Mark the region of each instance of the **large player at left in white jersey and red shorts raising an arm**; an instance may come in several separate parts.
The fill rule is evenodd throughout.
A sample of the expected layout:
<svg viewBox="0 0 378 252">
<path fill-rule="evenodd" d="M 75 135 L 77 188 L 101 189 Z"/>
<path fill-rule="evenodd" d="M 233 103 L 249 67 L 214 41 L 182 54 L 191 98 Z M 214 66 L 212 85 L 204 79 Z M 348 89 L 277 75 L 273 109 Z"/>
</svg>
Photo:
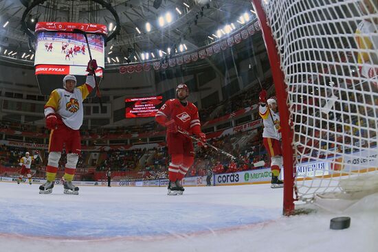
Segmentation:
<svg viewBox="0 0 378 252">
<path fill-rule="evenodd" d="M 80 126 L 82 125 L 82 101 L 96 85 L 94 72 L 97 69 L 96 60 L 89 60 L 88 76 L 85 84 L 76 87 L 75 76 L 67 75 L 63 78 L 64 89 L 52 91 L 45 105 L 46 127 L 51 130 L 49 138 L 49 160 L 46 168 L 46 183 L 39 187 L 40 194 L 52 193 L 58 162 L 62 154 L 63 145 L 67 153 L 67 163 L 63 176 L 65 194 L 78 194 L 79 188 L 72 185 L 76 164 L 81 152 Z"/>
</svg>

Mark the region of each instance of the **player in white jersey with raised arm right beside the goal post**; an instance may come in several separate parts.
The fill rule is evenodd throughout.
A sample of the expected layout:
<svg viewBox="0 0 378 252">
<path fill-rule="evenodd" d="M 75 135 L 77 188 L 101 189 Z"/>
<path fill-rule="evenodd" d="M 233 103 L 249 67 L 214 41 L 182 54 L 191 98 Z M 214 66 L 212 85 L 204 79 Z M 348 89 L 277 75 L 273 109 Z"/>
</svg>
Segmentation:
<svg viewBox="0 0 378 252">
<path fill-rule="evenodd" d="M 274 99 L 267 100 L 267 91 L 263 90 L 258 95 L 260 106 L 258 113 L 263 118 L 264 146 L 271 159 L 271 188 L 283 187 L 283 182 L 278 179 L 280 176 L 281 166 L 283 165 L 281 133 L 280 133 L 280 115 L 278 113 L 277 102 Z"/>
</svg>

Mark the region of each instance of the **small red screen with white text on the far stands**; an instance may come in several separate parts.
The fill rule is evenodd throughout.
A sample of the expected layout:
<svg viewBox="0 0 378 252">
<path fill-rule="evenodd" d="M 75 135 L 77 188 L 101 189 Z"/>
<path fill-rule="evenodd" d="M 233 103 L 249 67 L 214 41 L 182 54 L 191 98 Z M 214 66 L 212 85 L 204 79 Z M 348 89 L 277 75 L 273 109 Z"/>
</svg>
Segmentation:
<svg viewBox="0 0 378 252">
<path fill-rule="evenodd" d="M 162 96 L 151 96 L 143 98 L 126 98 L 125 117 L 154 117 L 162 105 Z"/>
</svg>

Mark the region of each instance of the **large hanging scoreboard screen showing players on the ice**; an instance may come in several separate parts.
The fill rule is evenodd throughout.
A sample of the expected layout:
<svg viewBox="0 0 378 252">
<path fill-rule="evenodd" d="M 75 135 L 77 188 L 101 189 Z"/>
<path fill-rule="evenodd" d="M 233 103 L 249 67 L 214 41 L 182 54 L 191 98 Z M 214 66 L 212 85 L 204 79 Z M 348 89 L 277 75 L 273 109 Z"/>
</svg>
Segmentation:
<svg viewBox="0 0 378 252">
<path fill-rule="evenodd" d="M 85 36 L 74 33 L 74 29 L 87 32 Z M 34 66 L 39 74 L 72 74 L 86 76 L 89 60 L 88 45 L 91 56 L 97 60 L 97 76 L 102 76 L 104 69 L 104 36 L 107 27 L 100 24 L 85 23 L 47 23 L 36 24 L 36 54 Z M 97 71 L 96 71 L 97 73 Z"/>
</svg>

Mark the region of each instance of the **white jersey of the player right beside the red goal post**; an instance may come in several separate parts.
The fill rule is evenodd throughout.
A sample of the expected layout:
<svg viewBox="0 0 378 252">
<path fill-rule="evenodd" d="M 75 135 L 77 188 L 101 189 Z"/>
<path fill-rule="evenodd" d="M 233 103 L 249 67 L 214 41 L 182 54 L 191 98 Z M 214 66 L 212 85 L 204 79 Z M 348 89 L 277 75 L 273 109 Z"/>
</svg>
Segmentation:
<svg viewBox="0 0 378 252">
<path fill-rule="evenodd" d="M 266 104 L 258 107 L 258 113 L 263 118 L 264 123 L 263 137 L 281 140 L 281 133 L 278 132 L 280 130 L 280 114 L 267 109 L 267 106 Z M 273 117 L 273 120 L 271 117 Z"/>
</svg>

